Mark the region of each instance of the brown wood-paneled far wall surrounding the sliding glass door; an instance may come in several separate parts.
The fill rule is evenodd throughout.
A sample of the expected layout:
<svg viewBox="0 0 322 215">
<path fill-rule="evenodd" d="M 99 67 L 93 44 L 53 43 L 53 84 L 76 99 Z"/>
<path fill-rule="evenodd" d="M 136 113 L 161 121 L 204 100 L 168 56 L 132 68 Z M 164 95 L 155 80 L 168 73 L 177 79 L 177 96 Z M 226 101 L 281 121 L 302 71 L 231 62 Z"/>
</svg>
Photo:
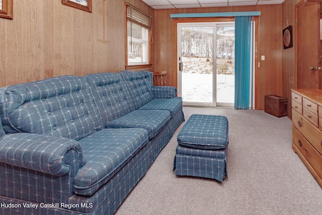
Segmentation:
<svg viewBox="0 0 322 215">
<path fill-rule="evenodd" d="M 155 10 L 154 69 L 167 70 L 167 83 L 177 86 L 177 26 L 175 20 L 170 19 L 170 14 L 241 11 L 261 11 L 257 55 L 258 59 L 265 55 L 265 60 L 259 61 L 257 70 L 256 107 L 265 109 L 265 95 L 282 96 L 282 5 Z"/>
</svg>

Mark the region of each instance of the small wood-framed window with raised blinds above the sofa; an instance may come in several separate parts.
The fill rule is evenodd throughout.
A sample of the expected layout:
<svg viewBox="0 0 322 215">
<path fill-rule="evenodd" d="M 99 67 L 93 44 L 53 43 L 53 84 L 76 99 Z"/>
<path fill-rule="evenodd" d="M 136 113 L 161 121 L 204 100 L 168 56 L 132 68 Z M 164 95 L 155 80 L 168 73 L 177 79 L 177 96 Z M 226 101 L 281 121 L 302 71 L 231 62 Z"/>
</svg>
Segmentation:
<svg viewBox="0 0 322 215">
<path fill-rule="evenodd" d="M 151 17 L 126 4 L 126 23 L 126 65 L 150 64 L 149 35 L 151 32 Z"/>
</svg>

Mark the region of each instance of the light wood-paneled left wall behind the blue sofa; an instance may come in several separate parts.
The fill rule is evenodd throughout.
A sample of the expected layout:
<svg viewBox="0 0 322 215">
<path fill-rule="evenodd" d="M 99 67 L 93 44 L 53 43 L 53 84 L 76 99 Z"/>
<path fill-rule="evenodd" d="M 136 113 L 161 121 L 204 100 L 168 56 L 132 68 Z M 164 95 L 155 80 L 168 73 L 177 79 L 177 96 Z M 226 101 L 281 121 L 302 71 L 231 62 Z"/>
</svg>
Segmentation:
<svg viewBox="0 0 322 215">
<path fill-rule="evenodd" d="M 0 18 L 0 87 L 124 70 L 125 2 L 154 16 L 141 0 L 95 0 L 93 13 L 61 0 L 15 1 L 14 19 Z"/>
</svg>

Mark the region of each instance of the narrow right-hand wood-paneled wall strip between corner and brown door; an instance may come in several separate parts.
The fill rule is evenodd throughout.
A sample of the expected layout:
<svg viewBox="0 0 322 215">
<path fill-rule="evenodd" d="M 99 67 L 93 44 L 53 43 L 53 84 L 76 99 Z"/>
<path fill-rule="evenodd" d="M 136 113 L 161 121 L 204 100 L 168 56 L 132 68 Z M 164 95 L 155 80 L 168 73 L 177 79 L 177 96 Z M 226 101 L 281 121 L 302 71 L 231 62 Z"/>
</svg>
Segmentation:
<svg viewBox="0 0 322 215">
<path fill-rule="evenodd" d="M 286 0 L 283 3 L 283 21 L 282 29 L 292 26 L 293 32 L 295 28 L 295 5 L 300 0 Z M 292 117 L 292 106 L 291 106 L 291 89 L 295 87 L 295 46 L 294 34 L 293 34 L 293 47 L 283 49 L 282 51 L 282 86 L 283 86 L 283 97 L 288 98 L 288 117 Z"/>
</svg>

